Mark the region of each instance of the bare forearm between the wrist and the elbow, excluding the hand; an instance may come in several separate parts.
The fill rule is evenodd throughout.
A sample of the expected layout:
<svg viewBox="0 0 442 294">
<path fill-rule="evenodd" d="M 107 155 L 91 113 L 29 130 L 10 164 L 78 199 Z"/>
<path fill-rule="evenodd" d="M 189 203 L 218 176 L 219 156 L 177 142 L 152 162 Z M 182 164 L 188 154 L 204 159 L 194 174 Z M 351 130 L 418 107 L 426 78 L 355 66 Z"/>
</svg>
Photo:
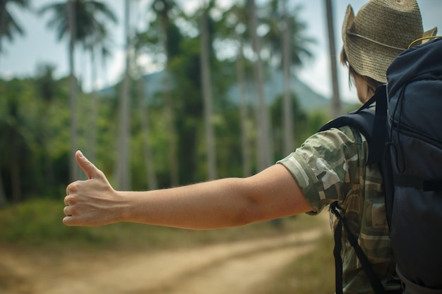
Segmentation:
<svg viewBox="0 0 442 294">
<path fill-rule="evenodd" d="M 192 229 L 261 221 L 264 216 L 247 180 L 227 178 L 165 190 L 118 192 L 126 200 L 121 221 Z"/>
</svg>

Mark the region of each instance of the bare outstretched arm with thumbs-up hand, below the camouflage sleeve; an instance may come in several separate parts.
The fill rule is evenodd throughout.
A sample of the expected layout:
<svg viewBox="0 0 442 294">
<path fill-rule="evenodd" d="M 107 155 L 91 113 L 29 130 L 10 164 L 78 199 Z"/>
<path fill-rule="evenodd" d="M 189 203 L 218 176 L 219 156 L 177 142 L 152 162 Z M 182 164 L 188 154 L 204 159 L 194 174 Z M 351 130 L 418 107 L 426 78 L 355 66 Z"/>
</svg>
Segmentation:
<svg viewBox="0 0 442 294">
<path fill-rule="evenodd" d="M 118 221 L 177 228 L 241 226 L 302 212 L 311 207 L 292 175 L 275 164 L 249 178 L 225 178 L 152 191 L 117 191 L 81 152 L 78 165 L 88 180 L 68 185 L 67 226 L 102 226 Z"/>
</svg>

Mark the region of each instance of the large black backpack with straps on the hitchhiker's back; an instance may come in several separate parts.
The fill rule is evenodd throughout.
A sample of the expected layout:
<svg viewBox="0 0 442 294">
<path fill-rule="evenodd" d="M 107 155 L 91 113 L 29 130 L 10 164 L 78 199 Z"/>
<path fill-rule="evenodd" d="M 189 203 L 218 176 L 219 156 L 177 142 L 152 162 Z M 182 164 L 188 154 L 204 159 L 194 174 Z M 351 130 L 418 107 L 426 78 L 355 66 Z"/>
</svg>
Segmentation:
<svg viewBox="0 0 442 294">
<path fill-rule="evenodd" d="M 321 130 L 351 125 L 369 144 L 367 164 L 379 164 L 396 271 L 407 294 L 442 294 L 442 39 L 402 52 L 387 85 L 359 110 Z M 376 102 L 376 113 L 369 106 Z M 342 226 L 374 293 L 386 293 L 357 243 L 338 202 L 335 230 L 336 293 L 342 293 Z"/>
</svg>

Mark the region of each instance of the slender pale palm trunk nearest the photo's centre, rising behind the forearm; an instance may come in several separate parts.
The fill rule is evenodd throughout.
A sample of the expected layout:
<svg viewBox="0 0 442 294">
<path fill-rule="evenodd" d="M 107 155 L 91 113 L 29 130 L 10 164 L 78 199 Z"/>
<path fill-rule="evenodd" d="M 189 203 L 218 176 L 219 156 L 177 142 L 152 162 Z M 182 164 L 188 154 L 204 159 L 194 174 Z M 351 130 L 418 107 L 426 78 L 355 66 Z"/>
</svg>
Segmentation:
<svg viewBox="0 0 442 294">
<path fill-rule="evenodd" d="M 205 142 L 207 148 L 208 180 L 217 178 L 215 135 L 212 125 L 212 85 L 210 81 L 208 9 L 203 7 L 201 16 L 201 79 L 203 85 Z"/>
</svg>

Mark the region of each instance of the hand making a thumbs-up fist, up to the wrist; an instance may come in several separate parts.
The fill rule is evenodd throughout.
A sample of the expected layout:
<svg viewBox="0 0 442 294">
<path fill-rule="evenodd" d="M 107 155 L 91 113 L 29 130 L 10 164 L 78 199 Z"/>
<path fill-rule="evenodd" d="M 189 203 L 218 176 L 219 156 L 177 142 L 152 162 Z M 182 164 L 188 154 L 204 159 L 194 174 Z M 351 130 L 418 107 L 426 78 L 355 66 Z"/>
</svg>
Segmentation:
<svg viewBox="0 0 442 294">
<path fill-rule="evenodd" d="M 66 188 L 63 223 L 66 226 L 103 226 L 119 221 L 117 207 L 121 208 L 123 199 L 104 173 L 80 151 L 75 156 L 88 180 L 77 180 Z"/>
</svg>

